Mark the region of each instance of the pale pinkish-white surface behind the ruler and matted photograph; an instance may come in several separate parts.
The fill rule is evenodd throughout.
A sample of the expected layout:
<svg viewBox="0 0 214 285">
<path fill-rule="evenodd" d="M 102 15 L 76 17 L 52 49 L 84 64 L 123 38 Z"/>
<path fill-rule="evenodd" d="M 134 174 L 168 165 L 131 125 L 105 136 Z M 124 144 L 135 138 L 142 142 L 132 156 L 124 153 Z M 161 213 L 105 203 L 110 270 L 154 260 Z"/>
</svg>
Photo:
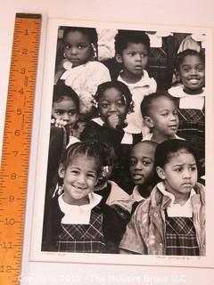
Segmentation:
<svg viewBox="0 0 214 285">
<path fill-rule="evenodd" d="M 45 24 L 48 17 L 64 17 L 80 20 L 214 27 L 213 0 L 37 0 L 34 2 L 29 0 L 5 0 L 1 1 L 0 9 L 0 138 L 3 136 L 4 128 L 4 109 L 15 12 L 42 13 L 43 24 Z M 45 27 L 43 27 L 41 46 L 44 46 L 44 35 Z M 43 57 L 42 52 L 40 55 L 39 81 L 42 78 Z M 213 62 L 210 63 L 213 64 Z M 39 90 L 39 85 L 37 89 Z M 39 101 L 39 98 L 37 100 Z M 36 102 L 36 106 L 37 104 Z M 37 124 L 36 121 L 35 129 L 37 129 Z M 31 159 L 34 159 L 34 157 Z M 30 194 L 32 193 L 29 191 L 29 197 Z M 28 245 L 26 245 L 26 248 L 28 249 Z M 27 263 L 27 257 L 25 256 L 22 284 L 213 285 L 214 270 L 128 265 L 38 264 Z"/>
</svg>

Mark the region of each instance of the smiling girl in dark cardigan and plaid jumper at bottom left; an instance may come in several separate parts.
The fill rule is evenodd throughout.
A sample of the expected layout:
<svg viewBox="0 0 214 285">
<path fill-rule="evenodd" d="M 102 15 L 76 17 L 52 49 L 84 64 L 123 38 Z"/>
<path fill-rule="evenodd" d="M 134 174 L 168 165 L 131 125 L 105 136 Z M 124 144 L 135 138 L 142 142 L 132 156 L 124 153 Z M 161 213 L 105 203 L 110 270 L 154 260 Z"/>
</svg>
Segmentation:
<svg viewBox="0 0 214 285">
<path fill-rule="evenodd" d="M 101 167 L 97 142 L 76 142 L 64 152 L 64 190 L 45 204 L 42 250 L 101 253 L 119 242 L 119 216 L 94 193 Z"/>
</svg>

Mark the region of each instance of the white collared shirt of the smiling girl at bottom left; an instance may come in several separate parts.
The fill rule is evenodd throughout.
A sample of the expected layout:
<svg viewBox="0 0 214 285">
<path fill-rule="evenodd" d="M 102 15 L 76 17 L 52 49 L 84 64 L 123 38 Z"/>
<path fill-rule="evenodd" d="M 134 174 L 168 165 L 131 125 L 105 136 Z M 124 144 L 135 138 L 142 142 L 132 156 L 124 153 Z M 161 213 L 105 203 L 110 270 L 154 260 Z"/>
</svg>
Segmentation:
<svg viewBox="0 0 214 285">
<path fill-rule="evenodd" d="M 92 208 L 95 208 L 102 199 L 100 195 L 92 192 L 88 194 L 89 203 L 78 206 L 66 203 L 62 196 L 63 194 L 58 198 L 59 206 L 64 213 L 62 224 L 89 224 Z"/>
</svg>

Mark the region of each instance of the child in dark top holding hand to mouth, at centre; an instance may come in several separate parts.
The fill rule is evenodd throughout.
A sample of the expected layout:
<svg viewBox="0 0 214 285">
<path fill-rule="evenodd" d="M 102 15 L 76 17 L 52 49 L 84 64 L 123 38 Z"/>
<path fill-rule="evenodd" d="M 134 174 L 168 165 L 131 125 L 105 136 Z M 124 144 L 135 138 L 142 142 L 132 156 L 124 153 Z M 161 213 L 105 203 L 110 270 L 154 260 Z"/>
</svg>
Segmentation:
<svg viewBox="0 0 214 285">
<path fill-rule="evenodd" d="M 119 81 L 99 85 L 95 94 L 95 107 L 99 117 L 87 123 L 81 140 L 95 139 L 113 145 L 116 162 L 111 180 L 125 191 L 131 191 L 128 162 L 131 146 L 142 139 L 142 134 L 130 134 L 124 130 L 127 114 L 133 110 L 128 86 Z"/>
</svg>

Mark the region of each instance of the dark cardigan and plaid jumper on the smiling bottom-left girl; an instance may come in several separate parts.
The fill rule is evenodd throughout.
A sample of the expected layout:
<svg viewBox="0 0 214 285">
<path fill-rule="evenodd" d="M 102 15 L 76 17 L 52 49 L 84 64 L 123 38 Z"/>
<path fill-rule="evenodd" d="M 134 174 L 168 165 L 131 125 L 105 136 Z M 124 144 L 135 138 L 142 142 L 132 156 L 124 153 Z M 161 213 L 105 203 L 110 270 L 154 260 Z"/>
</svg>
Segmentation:
<svg viewBox="0 0 214 285">
<path fill-rule="evenodd" d="M 46 196 L 42 251 L 118 253 L 127 211 L 106 205 L 103 198 L 92 208 L 89 224 L 62 224 L 63 216 L 58 197 Z"/>
</svg>

